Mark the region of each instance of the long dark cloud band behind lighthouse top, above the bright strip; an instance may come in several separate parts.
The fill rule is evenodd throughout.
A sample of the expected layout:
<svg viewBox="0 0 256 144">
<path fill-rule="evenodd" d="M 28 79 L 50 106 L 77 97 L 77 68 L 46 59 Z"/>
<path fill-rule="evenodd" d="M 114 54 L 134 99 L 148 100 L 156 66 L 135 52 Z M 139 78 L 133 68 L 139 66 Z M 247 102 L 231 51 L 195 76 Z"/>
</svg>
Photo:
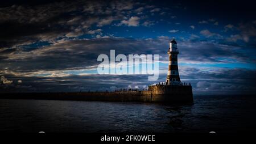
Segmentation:
<svg viewBox="0 0 256 144">
<path fill-rule="evenodd" d="M 160 61 L 168 61 L 168 37 L 157 39 L 98 38 L 85 40 L 60 40 L 56 43 L 30 51 L 4 50 L 0 66 L 13 72 L 38 70 L 82 69 L 97 66 L 100 54 L 159 54 Z M 180 62 L 229 62 L 230 59 L 246 62 L 249 58 L 240 53 L 242 48 L 206 42 L 183 41 L 178 44 Z M 8 57 L 8 58 L 7 58 Z M 81 68 L 79 68 L 81 67 Z M 6 71 L 6 70 L 5 70 Z"/>
</svg>

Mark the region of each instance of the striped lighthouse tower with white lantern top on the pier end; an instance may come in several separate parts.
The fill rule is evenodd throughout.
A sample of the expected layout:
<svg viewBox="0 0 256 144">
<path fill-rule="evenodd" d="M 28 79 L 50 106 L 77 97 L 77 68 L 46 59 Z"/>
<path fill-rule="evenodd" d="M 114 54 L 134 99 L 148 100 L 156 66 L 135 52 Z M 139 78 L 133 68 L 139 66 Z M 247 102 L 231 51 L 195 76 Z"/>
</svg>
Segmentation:
<svg viewBox="0 0 256 144">
<path fill-rule="evenodd" d="M 177 43 L 174 39 L 170 41 L 170 48 L 168 50 L 168 54 L 169 54 L 169 67 L 168 67 L 166 84 L 180 85 L 180 75 L 179 75 L 179 69 L 177 66 L 177 54 L 179 54 L 179 50 L 177 50 Z"/>
</svg>

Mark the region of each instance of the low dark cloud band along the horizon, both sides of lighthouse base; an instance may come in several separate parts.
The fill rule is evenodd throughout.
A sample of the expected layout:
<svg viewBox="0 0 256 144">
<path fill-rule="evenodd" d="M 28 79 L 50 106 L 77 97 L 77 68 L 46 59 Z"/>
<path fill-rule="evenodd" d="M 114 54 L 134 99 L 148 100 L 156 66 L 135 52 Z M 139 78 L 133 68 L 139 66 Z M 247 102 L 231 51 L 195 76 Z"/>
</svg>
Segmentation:
<svg viewBox="0 0 256 144">
<path fill-rule="evenodd" d="M 255 94 L 255 70 L 212 69 L 180 67 L 182 82 L 191 82 L 195 95 L 246 95 Z M 167 69 L 166 69 L 167 71 Z M 69 75 L 67 77 L 16 77 L 7 75 L 8 84 L 1 91 L 105 91 L 120 88 L 143 90 L 152 83 L 164 82 L 166 74 L 160 74 L 158 81 L 150 82 L 148 75 Z M 7 79 L 6 78 L 6 79 Z M 137 79 L 139 81 L 134 81 Z M 21 80 L 22 83 L 18 81 Z M 89 87 L 88 87 L 89 86 Z"/>
</svg>

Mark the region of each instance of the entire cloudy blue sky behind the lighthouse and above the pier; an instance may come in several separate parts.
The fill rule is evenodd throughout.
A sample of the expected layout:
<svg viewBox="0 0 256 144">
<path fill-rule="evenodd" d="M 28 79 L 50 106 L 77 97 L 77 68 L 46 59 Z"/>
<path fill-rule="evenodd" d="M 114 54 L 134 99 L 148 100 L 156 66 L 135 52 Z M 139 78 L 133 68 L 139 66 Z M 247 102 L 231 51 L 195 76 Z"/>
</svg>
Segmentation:
<svg viewBox="0 0 256 144">
<path fill-rule="evenodd" d="M 0 4 L 0 92 L 146 89 L 166 81 L 177 41 L 195 95 L 255 94 L 253 1 L 8 1 Z M 159 54 L 159 79 L 100 75 L 100 54 Z"/>
</svg>

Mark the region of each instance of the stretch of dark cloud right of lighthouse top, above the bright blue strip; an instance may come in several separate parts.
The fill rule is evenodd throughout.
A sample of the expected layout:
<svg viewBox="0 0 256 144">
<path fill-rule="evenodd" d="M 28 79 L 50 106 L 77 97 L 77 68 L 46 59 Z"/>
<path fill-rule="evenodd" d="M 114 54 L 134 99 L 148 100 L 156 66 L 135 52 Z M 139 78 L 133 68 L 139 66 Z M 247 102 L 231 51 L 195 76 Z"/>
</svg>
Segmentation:
<svg viewBox="0 0 256 144">
<path fill-rule="evenodd" d="M 179 57 L 180 62 L 229 63 L 231 60 L 234 60 L 235 62 L 253 61 L 250 60 L 245 53 L 239 52 L 243 49 L 241 47 L 196 41 L 198 38 L 196 35 L 192 35 L 192 38 L 192 41 L 183 41 L 183 43 L 178 43 L 178 48 L 180 53 L 182 53 L 182 57 Z"/>
</svg>

